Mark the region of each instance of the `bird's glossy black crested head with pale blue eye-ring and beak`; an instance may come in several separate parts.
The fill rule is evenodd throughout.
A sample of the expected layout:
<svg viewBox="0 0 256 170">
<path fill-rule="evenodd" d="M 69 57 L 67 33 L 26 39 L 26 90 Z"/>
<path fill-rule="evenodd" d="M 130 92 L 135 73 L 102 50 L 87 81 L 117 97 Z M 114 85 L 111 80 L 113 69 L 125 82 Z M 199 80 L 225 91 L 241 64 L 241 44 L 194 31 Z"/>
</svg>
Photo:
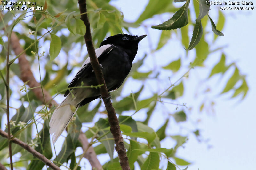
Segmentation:
<svg viewBox="0 0 256 170">
<path fill-rule="evenodd" d="M 142 40 L 146 36 L 147 35 L 137 36 L 128 34 L 117 34 L 110 36 L 106 40 L 102 41 L 100 43 L 100 46 L 112 44 L 124 50 L 130 57 L 132 57 L 133 60 L 135 55 L 137 54 L 138 44 L 140 40 Z"/>
</svg>

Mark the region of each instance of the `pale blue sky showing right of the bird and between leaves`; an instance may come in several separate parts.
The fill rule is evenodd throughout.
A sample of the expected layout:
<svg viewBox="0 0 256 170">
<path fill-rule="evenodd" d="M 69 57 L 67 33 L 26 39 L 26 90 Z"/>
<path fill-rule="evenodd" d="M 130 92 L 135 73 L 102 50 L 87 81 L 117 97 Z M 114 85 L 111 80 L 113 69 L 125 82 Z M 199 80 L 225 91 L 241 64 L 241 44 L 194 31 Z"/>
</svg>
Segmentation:
<svg viewBox="0 0 256 170">
<path fill-rule="evenodd" d="M 140 13 L 144 10 L 147 0 L 130 0 L 130 1 L 113 1 L 118 9 L 124 13 L 124 20 L 136 21 Z M 137 5 L 134 5 L 137 4 Z M 178 4 L 178 5 L 182 5 Z M 255 5 L 255 4 L 254 4 Z M 213 20 L 217 20 L 218 6 L 212 5 L 209 15 Z M 256 67 L 255 67 L 255 47 L 256 47 L 256 12 L 255 11 L 223 11 L 226 18 L 225 27 L 222 30 L 224 37 L 220 37 L 214 47 L 221 47 L 227 45 L 222 51 L 227 54 L 227 61 L 235 61 L 242 74 L 246 74 L 246 80 L 250 90 L 244 100 L 235 98 L 230 100 L 232 93 L 228 93 L 222 96 L 218 96 L 218 92 L 224 88 L 226 81 L 220 81 L 220 77 L 214 77 L 209 83 L 210 86 L 216 90 L 216 93 L 209 98 L 214 99 L 216 105 L 214 107 L 215 114 L 209 115 L 205 112 L 198 114 L 198 110 L 192 111 L 189 118 L 195 120 L 200 118 L 201 123 L 197 125 L 202 131 L 204 139 L 210 139 L 209 143 L 212 145 L 211 149 L 208 149 L 207 144 L 198 143 L 193 135 L 189 136 L 189 140 L 184 144 L 184 148 L 178 150 L 178 156 L 193 162 L 188 167 L 192 169 L 253 169 L 256 166 L 256 146 L 255 146 L 255 95 L 256 95 Z M 164 19 L 168 19 L 171 15 L 164 15 Z M 155 17 L 156 19 L 156 17 Z M 160 24 L 158 20 L 150 19 L 146 21 L 147 24 Z M 193 28 L 192 28 L 193 29 Z M 218 29 L 218 28 L 217 28 Z M 131 29 L 134 34 L 145 34 L 144 28 Z M 192 30 L 190 30 L 192 35 Z M 212 31 L 208 24 L 206 31 L 210 32 L 207 38 L 212 38 Z M 153 46 L 156 47 L 160 31 L 149 29 L 150 39 Z M 191 37 L 190 37 L 191 38 Z M 180 39 L 177 37 L 172 38 L 168 44 L 160 52 L 156 52 L 157 65 L 166 65 L 169 61 L 176 59 L 177 57 L 184 55 L 185 50 L 180 45 Z M 148 44 L 142 41 L 139 50 L 148 50 Z M 141 51 L 139 51 L 141 52 Z M 193 51 L 189 52 L 189 55 L 193 55 Z M 138 53 L 137 56 L 140 56 Z M 213 64 L 220 59 L 220 52 L 214 53 L 210 56 L 205 65 L 206 68 L 191 70 L 190 78 L 185 80 L 186 93 L 182 99 L 178 99 L 178 103 L 187 103 L 188 106 L 198 105 L 198 100 L 194 101 L 195 91 L 198 91 L 198 77 L 206 78 L 209 75 L 210 68 Z M 147 60 L 147 65 L 152 66 L 152 60 Z M 209 66 L 209 67 L 208 67 Z M 224 80 L 232 74 L 232 70 L 225 75 Z M 168 74 L 166 74 L 168 76 Z M 163 78 L 162 76 L 161 78 Z M 177 78 L 176 78 L 177 79 Z M 176 80 L 171 79 L 172 81 Z M 127 85 L 128 86 L 128 85 Z M 127 90 L 127 93 L 130 91 Z M 205 96 L 203 96 L 205 97 Z M 202 99 L 203 99 L 202 97 Z M 170 106 L 175 107 L 175 106 Z M 135 115 L 134 118 L 143 119 L 143 115 Z M 154 129 L 158 129 L 163 124 L 163 118 L 159 114 L 155 114 L 150 122 L 150 126 Z M 192 128 L 193 125 L 184 125 L 188 128 Z M 172 134 L 175 131 L 179 131 L 175 127 L 174 123 L 169 123 L 169 131 L 167 133 Z M 162 142 L 162 147 L 170 147 L 173 145 L 172 140 L 165 140 Z M 160 166 L 161 167 L 161 166 Z"/>
</svg>

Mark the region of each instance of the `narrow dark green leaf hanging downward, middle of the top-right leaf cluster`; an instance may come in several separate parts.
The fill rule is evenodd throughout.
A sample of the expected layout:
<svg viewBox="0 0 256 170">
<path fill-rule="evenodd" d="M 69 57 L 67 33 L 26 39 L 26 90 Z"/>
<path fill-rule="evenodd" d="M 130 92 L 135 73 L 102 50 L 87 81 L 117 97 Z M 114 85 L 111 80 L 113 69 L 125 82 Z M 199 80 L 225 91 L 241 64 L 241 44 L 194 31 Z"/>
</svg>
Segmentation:
<svg viewBox="0 0 256 170">
<path fill-rule="evenodd" d="M 193 49 L 199 43 L 202 35 L 203 35 L 203 27 L 201 24 L 201 20 L 197 20 L 193 30 L 191 42 L 187 50 Z"/>
</svg>

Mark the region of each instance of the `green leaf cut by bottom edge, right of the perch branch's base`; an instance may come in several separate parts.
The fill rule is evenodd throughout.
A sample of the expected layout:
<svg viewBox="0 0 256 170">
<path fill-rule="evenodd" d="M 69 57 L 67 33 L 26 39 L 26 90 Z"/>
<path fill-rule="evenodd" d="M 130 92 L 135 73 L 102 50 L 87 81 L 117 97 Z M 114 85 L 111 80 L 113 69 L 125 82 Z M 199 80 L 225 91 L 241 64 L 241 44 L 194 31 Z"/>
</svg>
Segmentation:
<svg viewBox="0 0 256 170">
<path fill-rule="evenodd" d="M 141 170 L 158 169 L 159 162 L 160 162 L 160 158 L 159 158 L 158 153 L 150 152 L 147 160 L 141 166 Z"/>
</svg>

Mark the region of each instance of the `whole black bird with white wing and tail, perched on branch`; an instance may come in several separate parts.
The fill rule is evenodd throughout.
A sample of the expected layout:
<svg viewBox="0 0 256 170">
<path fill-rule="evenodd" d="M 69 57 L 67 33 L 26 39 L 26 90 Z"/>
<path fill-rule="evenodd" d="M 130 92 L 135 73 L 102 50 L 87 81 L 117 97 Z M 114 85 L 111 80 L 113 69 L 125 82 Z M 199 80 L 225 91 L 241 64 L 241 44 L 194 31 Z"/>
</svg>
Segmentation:
<svg viewBox="0 0 256 170">
<path fill-rule="evenodd" d="M 98 57 L 108 92 L 119 88 L 132 68 L 132 61 L 138 51 L 138 43 L 147 35 L 134 36 L 117 34 L 108 37 L 95 50 Z M 83 83 L 82 83 L 83 82 Z M 68 85 L 60 105 L 54 110 L 50 120 L 50 134 L 53 134 L 53 143 L 56 142 L 70 119 L 78 109 L 92 100 L 100 97 L 99 88 L 73 88 L 79 86 L 98 85 L 88 57 L 75 78 Z"/>
</svg>

